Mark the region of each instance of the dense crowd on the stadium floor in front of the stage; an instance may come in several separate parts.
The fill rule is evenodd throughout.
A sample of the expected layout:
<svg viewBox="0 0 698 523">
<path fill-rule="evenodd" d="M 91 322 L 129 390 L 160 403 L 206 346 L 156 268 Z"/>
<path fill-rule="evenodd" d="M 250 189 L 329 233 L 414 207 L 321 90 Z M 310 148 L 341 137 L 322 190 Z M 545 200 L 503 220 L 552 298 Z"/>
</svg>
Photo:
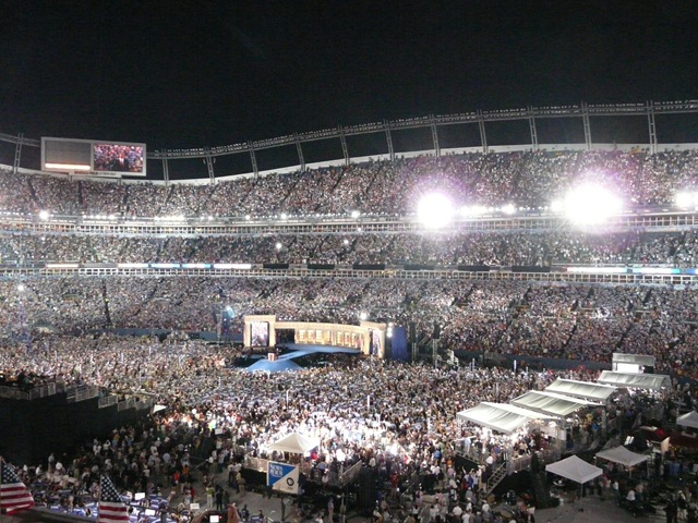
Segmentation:
<svg viewBox="0 0 698 523">
<path fill-rule="evenodd" d="M 272 451 L 269 445 L 299 431 L 320 443 L 308 459 L 306 465 L 313 467 L 309 473 L 337 477 L 361 462 L 389 484 L 389 494 L 384 492 L 376 504 L 387 519 L 399 516 L 394 509 L 397 486 L 413 477 L 419 484 L 411 485 L 408 502 L 418 521 L 438 521 L 436 516 L 446 518 L 456 507 L 474 515 L 490 510 L 483 485 L 493 466 L 530 459 L 547 449 L 550 439 L 533 431 L 513 440 L 464 425 L 456 413 L 481 401 L 507 402 L 543 389 L 557 377 L 595 377 L 583 368 L 436 368 L 356 356 L 337 356 L 328 366 L 300 373 L 248 373 L 231 367 L 239 355 L 231 348 L 178 336 L 51 337 L 50 343 L 32 351 L 3 348 L 0 368 L 5 376 L 10 369 L 21 369 L 25 386 L 95 385 L 123 396 L 148 394 L 167 406 L 149 421 L 115 427 L 76 454 L 51 454 L 46 463 L 20 469 L 21 476 L 32 484 L 37 501 L 62 496 L 63 510 L 72 512 L 85 499 L 98 498 L 99 474 L 107 472 L 123 492 L 145 491 L 167 499 L 169 516 L 186 521 L 182 514 L 190 501 L 214 507 L 214 485 L 221 486 L 221 472 L 229 471 L 230 490 L 244 488 L 243 454 L 285 461 L 289 457 Z M 665 391 L 663 398 L 677 399 L 686 390 Z M 609 416 L 630 426 L 637 409 L 631 397 L 619 397 L 610 405 Z M 570 440 L 593 437 L 595 429 L 587 417 L 573 417 L 567 427 Z M 457 465 L 456 454 L 464 451 L 482 465 L 472 470 Z M 426 494 L 435 494 L 430 506 L 424 503 Z M 429 513 L 433 507 L 436 514 Z M 302 521 L 297 510 L 291 521 Z"/>
</svg>

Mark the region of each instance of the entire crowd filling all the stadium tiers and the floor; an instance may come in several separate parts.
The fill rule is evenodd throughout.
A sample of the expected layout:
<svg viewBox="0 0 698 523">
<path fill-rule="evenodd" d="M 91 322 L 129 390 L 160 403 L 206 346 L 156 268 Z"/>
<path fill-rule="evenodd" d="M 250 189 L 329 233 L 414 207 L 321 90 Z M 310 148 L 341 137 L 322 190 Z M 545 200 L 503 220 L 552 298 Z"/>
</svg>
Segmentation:
<svg viewBox="0 0 698 523">
<path fill-rule="evenodd" d="M 69 181 L 0 173 L 0 209 L 116 217 L 405 215 L 419 194 L 448 191 L 460 205 L 540 207 L 593 173 L 633 205 L 664 205 L 693 186 L 695 151 L 512 153 L 398 159 L 215 185 Z M 400 187 L 396 191 L 395 187 Z M 3 263 L 41 260 L 284 262 L 291 264 L 437 264 L 546 266 L 555 263 L 695 264 L 695 231 L 624 231 L 599 236 L 573 231 L 531 233 L 279 234 L 167 238 L 29 234 L 3 230 Z M 118 427 L 92 452 L 65 466 L 85 488 L 107 470 L 120 487 L 156 489 L 186 475 L 184 442 L 215 440 L 220 465 L 233 449 L 272 455 L 272 439 L 299 430 L 318 438 L 315 463 L 333 472 L 362 460 L 386 478 L 390 469 L 429 475 L 434 462 L 450 474 L 454 442 L 496 447 L 491 435 L 456 423 L 480 401 L 508 401 L 541 389 L 559 373 L 444 368 L 376 360 L 288 375 L 230 368 L 232 348 L 170 336 L 116 337 L 111 328 L 220 332 L 222 311 L 275 314 L 282 320 L 356 324 L 370 319 L 406 329 L 418 344 L 440 330 L 442 351 L 610 362 L 614 352 L 650 354 L 657 370 L 698 377 L 698 292 L 693 287 L 551 284 L 519 280 L 281 277 L 40 277 L 0 279 L 0 369 L 22 376 L 95 385 L 121 394 L 149 394 L 168 405 L 149 427 Z M 438 329 L 435 329 L 438 326 Z M 96 336 L 95 336 L 96 333 Z M 583 369 L 565 377 L 591 379 Z M 368 401 L 368 398 L 370 400 Z M 213 428 L 221 428 L 217 438 Z M 198 438 L 198 439 L 196 439 Z M 492 441 L 495 441 L 493 443 Z M 519 441 L 521 449 L 541 445 Z M 390 449 L 388 451 L 388 449 Z M 166 458 L 167 455 L 167 458 Z M 279 457 L 276 457 L 279 458 Z M 49 469 L 52 464 L 49 463 Z M 384 470 L 385 469 L 385 470 Z M 210 471 L 208 471 L 210 472 Z M 33 476 L 31 470 L 25 471 Z M 62 476 L 61 476 L 62 477 Z M 178 476 L 179 477 L 179 476 Z M 461 474 L 460 478 L 468 482 Z M 473 482 L 482 481 L 478 475 Z M 62 479 L 59 479 L 59 482 Z M 178 485 L 184 485 L 184 479 Z M 73 482 L 74 484 L 74 482 Z M 464 492 L 467 489 L 464 489 Z M 180 491 L 180 494 L 182 494 Z M 483 500 L 480 500 L 482 502 Z"/>
</svg>

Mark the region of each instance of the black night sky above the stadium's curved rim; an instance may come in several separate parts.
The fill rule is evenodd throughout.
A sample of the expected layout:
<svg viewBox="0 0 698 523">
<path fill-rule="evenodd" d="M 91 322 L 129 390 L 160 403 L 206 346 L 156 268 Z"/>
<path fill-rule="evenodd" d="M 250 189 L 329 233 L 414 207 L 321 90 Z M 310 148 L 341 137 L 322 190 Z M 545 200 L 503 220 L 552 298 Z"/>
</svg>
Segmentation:
<svg viewBox="0 0 698 523">
<path fill-rule="evenodd" d="M 0 132 L 226 145 L 698 98 L 694 1 L 1 1 Z"/>
</svg>

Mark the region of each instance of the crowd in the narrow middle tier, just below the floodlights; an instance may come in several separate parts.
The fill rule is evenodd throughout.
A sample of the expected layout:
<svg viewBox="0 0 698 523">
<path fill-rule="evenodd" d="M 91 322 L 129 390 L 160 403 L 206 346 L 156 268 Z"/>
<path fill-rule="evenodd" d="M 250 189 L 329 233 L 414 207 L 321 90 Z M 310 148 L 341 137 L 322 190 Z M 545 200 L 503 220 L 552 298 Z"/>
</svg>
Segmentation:
<svg viewBox="0 0 698 523">
<path fill-rule="evenodd" d="M 0 233 L 0 262 L 79 263 L 288 263 L 386 265 L 551 266 L 564 264 L 693 267 L 695 231 L 574 230 L 490 233 L 244 234 L 125 236 Z"/>
</svg>

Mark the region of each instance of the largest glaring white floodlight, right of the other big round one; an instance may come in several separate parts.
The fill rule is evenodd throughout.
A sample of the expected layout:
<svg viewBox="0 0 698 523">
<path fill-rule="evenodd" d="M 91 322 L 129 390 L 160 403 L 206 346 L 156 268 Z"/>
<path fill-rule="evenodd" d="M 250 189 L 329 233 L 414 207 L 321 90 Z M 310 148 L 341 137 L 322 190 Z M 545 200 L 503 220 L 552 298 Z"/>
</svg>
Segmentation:
<svg viewBox="0 0 698 523">
<path fill-rule="evenodd" d="M 565 216 L 574 224 L 594 226 L 621 212 L 623 203 L 606 187 L 587 183 L 567 193 L 564 209 Z"/>
</svg>

